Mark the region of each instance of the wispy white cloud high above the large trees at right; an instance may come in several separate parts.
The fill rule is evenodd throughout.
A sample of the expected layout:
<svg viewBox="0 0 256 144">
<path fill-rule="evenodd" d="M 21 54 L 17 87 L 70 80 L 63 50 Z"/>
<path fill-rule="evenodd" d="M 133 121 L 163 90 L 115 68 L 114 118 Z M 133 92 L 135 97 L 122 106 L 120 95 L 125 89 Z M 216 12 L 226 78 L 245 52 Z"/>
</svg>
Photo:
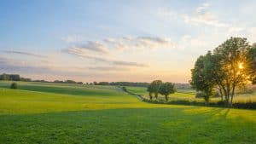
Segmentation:
<svg viewBox="0 0 256 144">
<path fill-rule="evenodd" d="M 208 11 L 209 3 L 202 3 L 195 9 L 194 14 L 183 14 L 183 20 L 194 25 L 204 24 L 207 26 L 224 27 L 227 24 L 220 22 L 218 18 Z"/>
</svg>

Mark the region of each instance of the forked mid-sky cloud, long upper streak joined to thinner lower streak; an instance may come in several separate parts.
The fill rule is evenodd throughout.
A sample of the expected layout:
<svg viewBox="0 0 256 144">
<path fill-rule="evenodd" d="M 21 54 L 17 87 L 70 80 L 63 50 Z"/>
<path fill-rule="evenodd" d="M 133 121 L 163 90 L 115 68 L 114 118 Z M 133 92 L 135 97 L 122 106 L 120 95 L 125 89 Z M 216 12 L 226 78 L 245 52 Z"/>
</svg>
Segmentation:
<svg viewBox="0 0 256 144">
<path fill-rule="evenodd" d="M 166 37 L 107 37 L 102 41 L 88 41 L 86 43 L 77 43 L 75 46 L 62 51 L 76 55 L 79 58 L 104 62 L 113 66 L 137 66 L 147 67 L 147 64 L 115 60 L 113 55 L 119 50 L 137 51 L 138 49 L 170 49 L 174 47 L 170 38 Z"/>
</svg>

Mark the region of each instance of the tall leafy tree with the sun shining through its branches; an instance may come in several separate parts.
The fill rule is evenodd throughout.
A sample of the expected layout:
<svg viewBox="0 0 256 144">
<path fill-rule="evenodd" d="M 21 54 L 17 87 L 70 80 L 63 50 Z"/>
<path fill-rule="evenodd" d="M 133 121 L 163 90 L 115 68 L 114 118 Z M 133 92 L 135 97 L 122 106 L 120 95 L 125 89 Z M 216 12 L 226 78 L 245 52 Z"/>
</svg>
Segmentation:
<svg viewBox="0 0 256 144">
<path fill-rule="evenodd" d="M 221 75 L 218 85 L 223 89 L 227 105 L 232 107 L 235 89 L 247 83 L 248 75 L 244 67 L 249 67 L 247 52 L 252 46 L 247 38 L 230 37 L 224 43 L 213 50 L 218 56 L 218 69 L 216 73 Z"/>
</svg>

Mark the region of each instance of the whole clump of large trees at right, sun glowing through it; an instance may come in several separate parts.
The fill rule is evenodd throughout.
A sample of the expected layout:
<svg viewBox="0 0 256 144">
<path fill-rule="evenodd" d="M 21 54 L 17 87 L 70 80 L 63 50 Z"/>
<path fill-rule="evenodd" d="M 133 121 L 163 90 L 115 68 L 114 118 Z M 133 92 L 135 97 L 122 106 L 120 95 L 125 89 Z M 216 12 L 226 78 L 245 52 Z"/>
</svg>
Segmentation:
<svg viewBox="0 0 256 144">
<path fill-rule="evenodd" d="M 247 38 L 230 37 L 207 55 L 201 55 L 191 70 L 190 84 L 204 95 L 206 103 L 218 89 L 222 101 L 232 107 L 238 87 L 256 84 L 256 44 Z"/>
</svg>

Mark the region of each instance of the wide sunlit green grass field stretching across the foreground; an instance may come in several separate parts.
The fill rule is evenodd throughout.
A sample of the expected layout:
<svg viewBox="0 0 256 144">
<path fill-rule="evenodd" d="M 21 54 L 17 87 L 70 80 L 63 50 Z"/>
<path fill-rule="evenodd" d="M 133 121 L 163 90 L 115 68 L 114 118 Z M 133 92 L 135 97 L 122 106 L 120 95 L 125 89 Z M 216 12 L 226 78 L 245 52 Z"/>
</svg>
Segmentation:
<svg viewBox="0 0 256 144">
<path fill-rule="evenodd" d="M 0 143 L 256 141 L 254 110 L 148 104 L 112 86 L 9 84 L 0 82 Z"/>
</svg>

